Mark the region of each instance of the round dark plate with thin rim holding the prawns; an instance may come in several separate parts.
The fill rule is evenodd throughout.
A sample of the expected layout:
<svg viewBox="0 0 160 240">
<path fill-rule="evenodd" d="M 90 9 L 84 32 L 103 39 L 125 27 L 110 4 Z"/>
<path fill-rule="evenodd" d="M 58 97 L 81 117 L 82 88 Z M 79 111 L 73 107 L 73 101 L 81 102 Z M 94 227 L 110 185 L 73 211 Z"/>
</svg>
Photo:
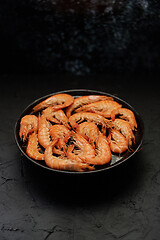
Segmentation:
<svg viewBox="0 0 160 240">
<path fill-rule="evenodd" d="M 135 132 L 135 143 L 132 145 L 132 150 L 127 151 L 123 154 L 121 154 L 120 156 L 117 154 L 112 154 L 112 160 L 109 164 L 103 165 L 103 166 L 97 166 L 96 169 L 94 171 L 86 171 L 86 172 L 72 172 L 72 171 L 62 171 L 62 170 L 56 170 L 56 169 L 51 169 L 49 168 L 44 161 L 36 161 L 30 157 L 28 157 L 28 155 L 26 154 L 26 147 L 24 143 L 22 143 L 22 141 L 20 140 L 19 137 L 19 129 L 20 129 L 20 121 L 21 118 L 26 115 L 26 114 L 30 114 L 33 107 L 35 105 L 37 105 L 39 102 L 45 100 L 46 98 L 52 96 L 53 94 L 58 94 L 58 93 L 68 93 L 74 97 L 79 97 L 79 96 L 85 96 L 85 95 L 106 95 L 106 96 L 111 96 L 114 98 L 115 101 L 117 101 L 118 103 L 120 103 L 123 107 L 128 108 L 130 110 L 132 110 L 135 114 L 136 117 L 136 121 L 137 121 L 137 131 Z M 20 115 L 18 121 L 16 122 L 15 125 L 15 139 L 17 142 L 17 145 L 19 147 L 19 149 L 21 150 L 21 152 L 24 154 L 24 156 L 26 158 L 28 158 L 30 161 L 32 161 L 33 163 L 37 164 L 38 166 L 48 169 L 50 171 L 53 172 L 63 172 L 63 173 L 70 173 L 70 174 L 88 174 L 88 173 L 95 173 L 95 172 L 100 172 L 100 171 L 105 171 L 107 169 L 116 167 L 117 165 L 125 162 L 126 160 L 128 160 L 129 158 L 131 158 L 140 148 L 141 144 L 142 144 L 142 140 L 143 140 L 143 133 L 144 133 L 144 126 L 143 126 L 143 121 L 140 117 L 140 115 L 135 111 L 135 109 L 130 106 L 127 102 L 125 102 L 124 100 L 113 96 L 111 94 L 108 93 L 104 93 L 104 92 L 100 92 L 100 91 L 94 91 L 94 90 L 85 90 L 85 89 L 75 89 L 75 90 L 66 90 L 66 91 L 61 91 L 61 92 L 55 92 L 55 93 L 51 93 L 47 96 L 44 96 L 42 98 L 37 99 L 36 101 L 34 101 L 33 103 L 31 103 Z"/>
</svg>

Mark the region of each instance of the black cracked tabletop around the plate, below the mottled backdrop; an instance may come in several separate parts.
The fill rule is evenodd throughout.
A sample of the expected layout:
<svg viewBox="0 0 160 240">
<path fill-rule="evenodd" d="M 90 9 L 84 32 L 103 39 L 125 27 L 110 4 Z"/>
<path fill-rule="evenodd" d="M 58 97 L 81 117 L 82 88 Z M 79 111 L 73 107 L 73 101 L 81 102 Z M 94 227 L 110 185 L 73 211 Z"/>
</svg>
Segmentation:
<svg viewBox="0 0 160 240">
<path fill-rule="evenodd" d="M 3 75 L 0 80 L 0 239 L 159 240 L 158 77 Z M 141 151 L 115 169 L 87 177 L 49 174 L 24 158 L 14 139 L 21 112 L 41 96 L 74 88 L 129 102 L 145 125 Z"/>
</svg>

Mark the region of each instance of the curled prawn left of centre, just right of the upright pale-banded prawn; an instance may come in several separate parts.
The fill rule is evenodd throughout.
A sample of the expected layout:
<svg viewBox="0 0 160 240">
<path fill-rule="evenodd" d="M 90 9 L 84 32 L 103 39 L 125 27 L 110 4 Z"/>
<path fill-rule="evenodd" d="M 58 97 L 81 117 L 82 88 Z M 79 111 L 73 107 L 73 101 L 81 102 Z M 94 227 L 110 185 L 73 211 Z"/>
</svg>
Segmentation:
<svg viewBox="0 0 160 240">
<path fill-rule="evenodd" d="M 59 139 L 59 141 L 56 144 L 58 151 L 56 151 L 55 149 L 54 153 L 60 154 L 60 151 L 63 150 L 63 152 L 66 154 L 66 143 L 71 137 L 71 131 L 64 125 L 53 125 L 50 127 L 49 131 L 52 140 L 55 140 L 57 138 Z"/>
</svg>

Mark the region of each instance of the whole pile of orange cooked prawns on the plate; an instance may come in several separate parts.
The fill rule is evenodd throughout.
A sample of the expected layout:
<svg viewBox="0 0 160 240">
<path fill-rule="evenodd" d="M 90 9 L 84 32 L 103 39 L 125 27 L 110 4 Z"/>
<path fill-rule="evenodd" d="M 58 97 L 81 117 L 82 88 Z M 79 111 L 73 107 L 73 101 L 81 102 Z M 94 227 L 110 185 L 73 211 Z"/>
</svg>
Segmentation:
<svg viewBox="0 0 160 240">
<path fill-rule="evenodd" d="M 53 169 L 91 171 L 135 142 L 134 113 L 110 96 L 55 94 L 22 117 L 26 153 Z"/>
</svg>

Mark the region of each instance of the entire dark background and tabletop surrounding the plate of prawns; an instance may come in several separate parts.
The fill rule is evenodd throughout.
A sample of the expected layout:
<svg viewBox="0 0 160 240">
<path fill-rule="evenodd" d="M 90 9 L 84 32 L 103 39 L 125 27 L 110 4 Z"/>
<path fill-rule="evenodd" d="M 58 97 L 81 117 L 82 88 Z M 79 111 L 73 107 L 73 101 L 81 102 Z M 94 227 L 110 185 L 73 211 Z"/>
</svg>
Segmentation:
<svg viewBox="0 0 160 240">
<path fill-rule="evenodd" d="M 0 239 L 160 236 L 158 1 L 0 2 Z M 96 175 L 53 174 L 24 158 L 14 126 L 32 101 L 93 89 L 130 103 L 142 148 Z"/>
</svg>

